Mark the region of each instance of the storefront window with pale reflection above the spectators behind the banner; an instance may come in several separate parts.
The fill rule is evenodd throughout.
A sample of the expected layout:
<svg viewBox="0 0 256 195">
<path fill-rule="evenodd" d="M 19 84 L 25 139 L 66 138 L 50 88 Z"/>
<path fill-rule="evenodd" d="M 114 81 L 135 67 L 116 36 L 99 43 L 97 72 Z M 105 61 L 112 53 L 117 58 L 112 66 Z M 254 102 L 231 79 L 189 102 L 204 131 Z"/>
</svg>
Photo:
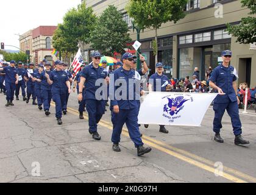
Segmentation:
<svg viewBox="0 0 256 195">
<path fill-rule="evenodd" d="M 185 78 L 186 76 L 190 76 L 191 78 L 192 74 L 194 73 L 194 67 L 198 67 L 201 71 L 201 56 L 201 48 L 180 49 L 180 78 Z"/>
</svg>

